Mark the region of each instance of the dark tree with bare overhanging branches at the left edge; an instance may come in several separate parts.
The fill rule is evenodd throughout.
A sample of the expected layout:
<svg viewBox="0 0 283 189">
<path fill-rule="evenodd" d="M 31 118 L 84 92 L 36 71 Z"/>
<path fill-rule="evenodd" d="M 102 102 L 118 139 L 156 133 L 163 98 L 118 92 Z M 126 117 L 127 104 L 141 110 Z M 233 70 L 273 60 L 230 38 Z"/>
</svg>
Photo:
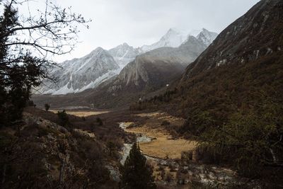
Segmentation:
<svg viewBox="0 0 283 189">
<path fill-rule="evenodd" d="M 83 16 L 45 1 L 44 11 L 22 15 L 26 1 L 0 1 L 0 125 L 21 120 L 30 89 L 50 76 L 56 64 L 52 55 L 64 55 L 74 49 Z M 86 25 L 88 28 L 88 25 Z"/>
</svg>

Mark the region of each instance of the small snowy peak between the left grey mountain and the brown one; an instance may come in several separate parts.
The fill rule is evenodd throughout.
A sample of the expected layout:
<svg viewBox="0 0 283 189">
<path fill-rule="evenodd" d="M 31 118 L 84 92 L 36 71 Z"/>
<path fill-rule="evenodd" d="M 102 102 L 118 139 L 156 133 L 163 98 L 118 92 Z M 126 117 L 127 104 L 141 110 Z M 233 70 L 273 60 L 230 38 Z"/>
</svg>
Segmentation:
<svg viewBox="0 0 283 189">
<path fill-rule="evenodd" d="M 117 64 L 119 64 L 121 69 L 139 55 L 139 51 L 134 47 L 129 46 L 127 43 L 112 48 L 108 50 L 108 52 L 112 55 Z"/>
</svg>

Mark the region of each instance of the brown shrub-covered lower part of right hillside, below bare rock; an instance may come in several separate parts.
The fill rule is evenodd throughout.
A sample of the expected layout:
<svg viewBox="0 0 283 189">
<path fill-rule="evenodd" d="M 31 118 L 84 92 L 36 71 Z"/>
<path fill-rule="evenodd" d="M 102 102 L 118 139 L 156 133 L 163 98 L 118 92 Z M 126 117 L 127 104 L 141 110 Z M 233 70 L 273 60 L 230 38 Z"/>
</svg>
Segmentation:
<svg viewBox="0 0 283 189">
<path fill-rule="evenodd" d="M 144 106 L 158 105 L 187 118 L 178 132 L 200 142 L 198 159 L 278 182 L 283 167 L 282 62 L 277 52 L 209 69 L 183 80 L 168 103 L 160 96 Z"/>
</svg>

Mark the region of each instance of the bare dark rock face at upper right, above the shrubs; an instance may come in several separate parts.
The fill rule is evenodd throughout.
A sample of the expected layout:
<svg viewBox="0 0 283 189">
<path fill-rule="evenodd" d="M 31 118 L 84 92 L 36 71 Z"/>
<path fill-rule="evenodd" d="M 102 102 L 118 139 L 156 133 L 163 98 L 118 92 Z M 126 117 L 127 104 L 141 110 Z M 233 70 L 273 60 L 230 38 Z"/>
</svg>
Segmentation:
<svg viewBox="0 0 283 189">
<path fill-rule="evenodd" d="M 282 46 L 283 1 L 265 0 L 238 18 L 198 59 L 187 68 L 183 79 L 224 64 L 245 64 Z"/>
</svg>

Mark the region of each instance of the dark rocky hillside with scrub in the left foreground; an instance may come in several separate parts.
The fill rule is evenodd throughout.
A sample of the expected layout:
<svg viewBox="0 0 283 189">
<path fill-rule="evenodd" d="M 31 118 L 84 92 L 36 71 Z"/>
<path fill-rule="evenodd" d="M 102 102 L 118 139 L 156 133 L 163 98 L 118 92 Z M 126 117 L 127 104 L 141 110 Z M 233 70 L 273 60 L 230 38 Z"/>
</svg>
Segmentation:
<svg viewBox="0 0 283 189">
<path fill-rule="evenodd" d="M 67 116 L 29 107 L 23 122 L 0 128 L 1 188 L 117 188 L 124 132 L 112 120 Z"/>
</svg>

